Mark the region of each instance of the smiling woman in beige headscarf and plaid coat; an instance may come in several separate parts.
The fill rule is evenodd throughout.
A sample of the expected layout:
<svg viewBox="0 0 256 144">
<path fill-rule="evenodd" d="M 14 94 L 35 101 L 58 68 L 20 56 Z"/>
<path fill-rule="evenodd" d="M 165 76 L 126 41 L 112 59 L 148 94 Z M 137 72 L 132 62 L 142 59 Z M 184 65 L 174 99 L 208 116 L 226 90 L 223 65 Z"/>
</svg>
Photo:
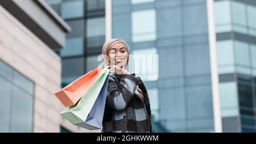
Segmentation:
<svg viewBox="0 0 256 144">
<path fill-rule="evenodd" d="M 150 101 L 141 78 L 130 74 L 129 46 L 122 39 L 106 41 L 102 54 L 110 71 L 102 132 L 152 132 Z M 114 67 L 113 67 L 114 68 Z"/>
</svg>

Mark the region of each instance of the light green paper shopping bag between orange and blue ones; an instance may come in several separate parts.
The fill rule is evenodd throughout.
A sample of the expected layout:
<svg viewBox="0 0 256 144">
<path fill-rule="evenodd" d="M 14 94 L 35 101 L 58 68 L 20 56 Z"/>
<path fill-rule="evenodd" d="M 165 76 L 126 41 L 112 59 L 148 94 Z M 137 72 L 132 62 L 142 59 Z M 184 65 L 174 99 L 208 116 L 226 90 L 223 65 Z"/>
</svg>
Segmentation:
<svg viewBox="0 0 256 144">
<path fill-rule="evenodd" d="M 93 107 L 93 104 L 97 99 L 97 96 L 100 94 L 101 88 L 104 85 L 108 74 L 109 69 L 105 69 L 100 78 L 98 78 L 90 90 L 84 96 L 82 96 L 80 101 L 76 105 L 67 107 L 63 112 L 60 113 L 60 115 L 74 125 L 85 122 L 90 110 Z"/>
</svg>

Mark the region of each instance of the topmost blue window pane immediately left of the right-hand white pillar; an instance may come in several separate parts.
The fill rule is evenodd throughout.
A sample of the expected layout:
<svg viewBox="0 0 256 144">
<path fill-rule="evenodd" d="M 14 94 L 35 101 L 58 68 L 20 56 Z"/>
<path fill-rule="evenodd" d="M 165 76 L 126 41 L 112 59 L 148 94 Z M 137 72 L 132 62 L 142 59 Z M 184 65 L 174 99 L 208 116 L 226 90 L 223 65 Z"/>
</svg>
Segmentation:
<svg viewBox="0 0 256 144">
<path fill-rule="evenodd" d="M 189 5 L 183 7 L 184 35 L 207 33 L 206 5 Z"/>
</svg>

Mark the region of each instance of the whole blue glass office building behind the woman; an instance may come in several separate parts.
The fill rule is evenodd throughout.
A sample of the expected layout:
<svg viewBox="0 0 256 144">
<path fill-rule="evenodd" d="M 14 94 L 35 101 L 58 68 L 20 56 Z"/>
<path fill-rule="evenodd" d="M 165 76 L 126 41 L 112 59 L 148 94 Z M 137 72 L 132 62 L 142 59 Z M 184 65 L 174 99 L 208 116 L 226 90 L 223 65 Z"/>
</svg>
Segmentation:
<svg viewBox="0 0 256 144">
<path fill-rule="evenodd" d="M 207 0 L 48 2 L 73 29 L 56 50 L 63 86 L 98 65 L 105 35 L 121 38 L 131 54 L 158 54 L 153 77 L 137 75 L 150 96 L 154 132 L 214 132 Z M 256 0 L 214 1 L 222 132 L 255 132 L 255 16 Z"/>
</svg>

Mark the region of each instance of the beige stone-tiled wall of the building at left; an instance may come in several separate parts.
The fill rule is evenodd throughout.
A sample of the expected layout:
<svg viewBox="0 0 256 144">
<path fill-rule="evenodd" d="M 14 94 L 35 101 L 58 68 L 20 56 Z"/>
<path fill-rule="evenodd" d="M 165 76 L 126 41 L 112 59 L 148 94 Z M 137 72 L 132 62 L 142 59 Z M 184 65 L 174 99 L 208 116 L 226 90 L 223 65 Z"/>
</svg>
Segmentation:
<svg viewBox="0 0 256 144">
<path fill-rule="evenodd" d="M 0 6 L 0 59 L 34 83 L 32 132 L 88 132 L 61 118 L 61 58 Z"/>
</svg>

